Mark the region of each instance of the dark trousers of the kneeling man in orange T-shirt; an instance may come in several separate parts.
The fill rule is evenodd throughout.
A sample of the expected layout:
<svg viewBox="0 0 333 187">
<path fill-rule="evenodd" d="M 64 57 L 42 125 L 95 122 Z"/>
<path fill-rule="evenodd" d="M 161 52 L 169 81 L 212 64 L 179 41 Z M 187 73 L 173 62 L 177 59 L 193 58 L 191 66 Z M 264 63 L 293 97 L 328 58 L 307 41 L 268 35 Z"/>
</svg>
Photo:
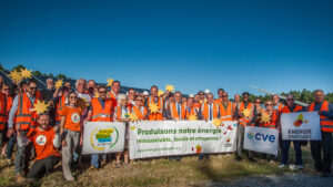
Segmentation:
<svg viewBox="0 0 333 187">
<path fill-rule="evenodd" d="M 56 155 L 36 160 L 27 175 L 27 178 L 41 178 L 43 175 L 50 174 L 59 160 L 60 157 Z"/>
</svg>

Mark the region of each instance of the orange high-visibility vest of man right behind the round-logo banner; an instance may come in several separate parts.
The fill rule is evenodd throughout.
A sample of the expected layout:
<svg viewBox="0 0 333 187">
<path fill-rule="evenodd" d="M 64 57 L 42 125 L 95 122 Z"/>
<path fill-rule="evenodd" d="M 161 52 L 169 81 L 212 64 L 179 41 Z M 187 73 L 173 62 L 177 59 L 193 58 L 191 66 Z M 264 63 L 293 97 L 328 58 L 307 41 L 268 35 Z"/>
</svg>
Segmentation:
<svg viewBox="0 0 333 187">
<path fill-rule="evenodd" d="M 105 100 L 104 108 L 99 98 L 91 100 L 92 117 L 91 122 L 112 122 L 112 100 Z"/>
</svg>

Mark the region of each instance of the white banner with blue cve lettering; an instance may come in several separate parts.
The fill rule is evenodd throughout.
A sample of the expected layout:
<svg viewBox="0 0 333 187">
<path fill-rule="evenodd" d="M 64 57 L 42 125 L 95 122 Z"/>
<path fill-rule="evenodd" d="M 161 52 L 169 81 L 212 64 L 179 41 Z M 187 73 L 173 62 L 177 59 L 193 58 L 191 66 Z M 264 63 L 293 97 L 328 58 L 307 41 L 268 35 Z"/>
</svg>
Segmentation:
<svg viewBox="0 0 333 187">
<path fill-rule="evenodd" d="M 279 131 L 248 126 L 244 133 L 244 149 L 278 155 Z"/>
</svg>

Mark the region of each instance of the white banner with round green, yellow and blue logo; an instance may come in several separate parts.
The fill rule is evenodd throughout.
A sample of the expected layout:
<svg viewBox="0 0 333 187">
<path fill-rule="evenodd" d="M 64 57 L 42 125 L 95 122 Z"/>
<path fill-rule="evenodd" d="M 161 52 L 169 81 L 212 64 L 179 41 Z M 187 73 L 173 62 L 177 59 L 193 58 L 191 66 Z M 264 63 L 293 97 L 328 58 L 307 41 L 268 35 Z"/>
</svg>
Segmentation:
<svg viewBox="0 0 333 187">
<path fill-rule="evenodd" d="M 122 152 L 125 124 L 119 122 L 87 122 L 82 154 Z"/>
</svg>

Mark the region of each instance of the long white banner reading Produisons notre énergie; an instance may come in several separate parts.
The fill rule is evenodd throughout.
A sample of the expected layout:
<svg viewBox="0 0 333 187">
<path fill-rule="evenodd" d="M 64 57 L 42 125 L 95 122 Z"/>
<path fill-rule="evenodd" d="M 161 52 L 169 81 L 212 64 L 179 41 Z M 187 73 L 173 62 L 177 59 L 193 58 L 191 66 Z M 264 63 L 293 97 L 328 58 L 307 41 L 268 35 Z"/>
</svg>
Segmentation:
<svg viewBox="0 0 333 187">
<path fill-rule="evenodd" d="M 204 121 L 151 121 L 130 123 L 130 158 L 236 149 L 236 122 L 216 127 Z"/>
</svg>

